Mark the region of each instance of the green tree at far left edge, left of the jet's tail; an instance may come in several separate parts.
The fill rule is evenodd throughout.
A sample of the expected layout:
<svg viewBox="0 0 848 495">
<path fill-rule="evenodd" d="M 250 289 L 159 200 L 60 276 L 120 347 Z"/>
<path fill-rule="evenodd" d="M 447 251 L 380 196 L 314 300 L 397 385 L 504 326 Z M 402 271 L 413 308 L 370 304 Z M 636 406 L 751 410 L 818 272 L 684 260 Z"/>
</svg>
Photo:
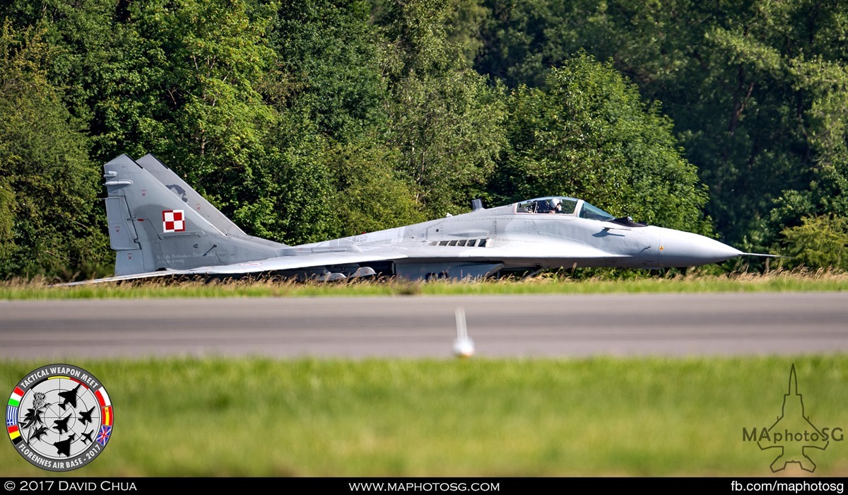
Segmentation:
<svg viewBox="0 0 848 495">
<path fill-rule="evenodd" d="M 62 94 L 47 81 L 56 54 L 44 30 L 0 34 L 0 273 L 104 274 L 98 168 Z"/>
</svg>

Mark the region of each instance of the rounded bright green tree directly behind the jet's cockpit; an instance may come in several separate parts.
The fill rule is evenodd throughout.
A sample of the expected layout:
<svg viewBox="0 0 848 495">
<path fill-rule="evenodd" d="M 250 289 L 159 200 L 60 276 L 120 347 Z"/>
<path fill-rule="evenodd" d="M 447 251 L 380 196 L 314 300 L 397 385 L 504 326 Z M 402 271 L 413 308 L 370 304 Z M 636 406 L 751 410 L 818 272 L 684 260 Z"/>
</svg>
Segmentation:
<svg viewBox="0 0 848 495">
<path fill-rule="evenodd" d="M 658 104 L 611 65 L 579 53 L 544 89 L 510 99 L 510 150 L 492 188 L 503 200 L 568 195 L 618 215 L 700 233 L 706 191 Z"/>
</svg>

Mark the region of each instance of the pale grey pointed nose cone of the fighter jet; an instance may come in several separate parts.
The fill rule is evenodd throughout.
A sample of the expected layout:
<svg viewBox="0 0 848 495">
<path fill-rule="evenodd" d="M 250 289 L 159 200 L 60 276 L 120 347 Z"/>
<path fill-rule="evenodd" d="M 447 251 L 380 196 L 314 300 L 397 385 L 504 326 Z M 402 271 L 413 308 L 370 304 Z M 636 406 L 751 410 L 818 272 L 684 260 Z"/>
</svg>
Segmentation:
<svg viewBox="0 0 848 495">
<path fill-rule="evenodd" d="M 742 251 L 697 233 L 664 229 L 660 236 L 663 267 L 695 267 L 739 256 Z"/>
</svg>

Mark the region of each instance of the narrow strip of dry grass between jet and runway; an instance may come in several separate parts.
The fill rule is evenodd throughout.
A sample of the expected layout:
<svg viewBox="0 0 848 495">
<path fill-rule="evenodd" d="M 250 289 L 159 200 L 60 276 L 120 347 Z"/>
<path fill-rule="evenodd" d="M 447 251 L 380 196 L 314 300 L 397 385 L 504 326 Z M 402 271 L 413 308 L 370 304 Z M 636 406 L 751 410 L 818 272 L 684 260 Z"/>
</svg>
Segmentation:
<svg viewBox="0 0 848 495">
<path fill-rule="evenodd" d="M 494 295 L 494 294 L 605 294 L 651 292 L 801 292 L 848 290 L 848 273 L 828 271 L 677 273 L 668 277 L 572 279 L 549 274 L 525 280 L 499 279 L 464 282 L 410 282 L 404 280 L 348 283 L 279 280 L 226 280 L 216 282 L 140 280 L 50 286 L 46 280 L 0 282 L 0 300 L 100 299 L 139 297 L 315 297 L 321 295 Z"/>
</svg>

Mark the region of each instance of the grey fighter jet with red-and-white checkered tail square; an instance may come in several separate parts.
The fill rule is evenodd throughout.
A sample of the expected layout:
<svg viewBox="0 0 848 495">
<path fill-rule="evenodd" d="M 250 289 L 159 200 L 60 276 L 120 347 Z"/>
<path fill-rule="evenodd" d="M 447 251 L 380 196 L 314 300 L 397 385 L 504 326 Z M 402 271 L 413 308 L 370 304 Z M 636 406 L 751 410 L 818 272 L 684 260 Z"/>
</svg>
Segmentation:
<svg viewBox="0 0 848 495">
<path fill-rule="evenodd" d="M 691 267 L 744 253 L 695 233 L 615 217 L 585 200 L 545 196 L 304 245 L 244 233 L 153 155 L 103 166 L 118 281 L 167 275 L 275 274 L 339 280 L 483 278 L 559 267 Z M 177 194 L 175 191 L 179 191 Z"/>
</svg>

